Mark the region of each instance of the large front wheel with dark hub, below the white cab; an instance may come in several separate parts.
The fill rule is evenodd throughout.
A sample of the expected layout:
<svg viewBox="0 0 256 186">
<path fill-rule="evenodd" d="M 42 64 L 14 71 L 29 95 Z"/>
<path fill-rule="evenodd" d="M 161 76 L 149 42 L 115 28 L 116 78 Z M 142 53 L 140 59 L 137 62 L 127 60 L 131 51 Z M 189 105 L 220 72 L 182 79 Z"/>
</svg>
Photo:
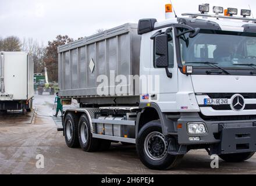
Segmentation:
<svg viewBox="0 0 256 186">
<path fill-rule="evenodd" d="M 154 140 L 158 142 L 154 143 Z M 155 145 L 150 148 L 148 144 Z M 141 162 L 149 169 L 154 170 L 172 169 L 181 162 L 184 156 L 168 154 L 168 142 L 162 134 L 160 121 L 150 121 L 140 129 L 136 149 Z M 152 155 L 151 152 L 155 155 Z"/>
</svg>

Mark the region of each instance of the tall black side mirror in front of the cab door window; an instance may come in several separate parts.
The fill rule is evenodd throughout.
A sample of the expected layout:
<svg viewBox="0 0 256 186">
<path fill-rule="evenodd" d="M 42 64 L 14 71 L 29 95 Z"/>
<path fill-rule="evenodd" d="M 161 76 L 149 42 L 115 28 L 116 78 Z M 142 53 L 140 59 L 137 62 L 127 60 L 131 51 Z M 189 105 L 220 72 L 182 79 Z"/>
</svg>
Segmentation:
<svg viewBox="0 0 256 186">
<path fill-rule="evenodd" d="M 155 65 L 159 68 L 168 67 L 168 35 L 157 35 L 155 37 Z"/>
</svg>

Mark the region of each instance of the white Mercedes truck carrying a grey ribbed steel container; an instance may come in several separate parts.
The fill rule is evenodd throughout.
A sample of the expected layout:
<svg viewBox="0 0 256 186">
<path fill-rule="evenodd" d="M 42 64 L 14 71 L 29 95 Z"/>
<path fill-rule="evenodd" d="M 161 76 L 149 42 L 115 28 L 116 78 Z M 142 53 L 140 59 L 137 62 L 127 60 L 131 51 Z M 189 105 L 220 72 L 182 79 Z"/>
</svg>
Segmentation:
<svg viewBox="0 0 256 186">
<path fill-rule="evenodd" d="M 237 9 L 223 16 L 222 7 L 214 15 L 199 7 L 58 48 L 59 95 L 80 103 L 59 128 L 67 146 L 92 152 L 136 144 L 141 162 L 158 170 L 177 166 L 191 149 L 227 162 L 254 155 L 256 20 L 250 10 L 238 17 Z"/>
</svg>

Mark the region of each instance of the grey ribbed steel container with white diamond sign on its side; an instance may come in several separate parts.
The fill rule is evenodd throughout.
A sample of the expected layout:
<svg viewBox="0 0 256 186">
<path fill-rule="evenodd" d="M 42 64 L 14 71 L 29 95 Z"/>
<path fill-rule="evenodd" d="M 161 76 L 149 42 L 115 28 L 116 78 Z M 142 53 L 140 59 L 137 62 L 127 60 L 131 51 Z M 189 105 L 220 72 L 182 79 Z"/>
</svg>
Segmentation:
<svg viewBox="0 0 256 186">
<path fill-rule="evenodd" d="M 127 23 L 59 47 L 59 95 L 95 97 L 99 75 L 138 75 L 140 42 L 137 24 Z"/>
</svg>

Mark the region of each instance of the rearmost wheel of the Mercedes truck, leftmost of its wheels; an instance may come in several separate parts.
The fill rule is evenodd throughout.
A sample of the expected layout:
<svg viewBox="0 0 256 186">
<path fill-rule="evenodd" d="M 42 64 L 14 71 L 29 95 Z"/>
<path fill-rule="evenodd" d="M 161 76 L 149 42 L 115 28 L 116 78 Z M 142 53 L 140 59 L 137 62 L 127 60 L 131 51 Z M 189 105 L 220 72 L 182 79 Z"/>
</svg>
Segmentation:
<svg viewBox="0 0 256 186">
<path fill-rule="evenodd" d="M 64 121 L 65 141 L 69 148 L 79 147 L 78 137 L 78 117 L 72 113 L 67 113 Z"/>
</svg>

